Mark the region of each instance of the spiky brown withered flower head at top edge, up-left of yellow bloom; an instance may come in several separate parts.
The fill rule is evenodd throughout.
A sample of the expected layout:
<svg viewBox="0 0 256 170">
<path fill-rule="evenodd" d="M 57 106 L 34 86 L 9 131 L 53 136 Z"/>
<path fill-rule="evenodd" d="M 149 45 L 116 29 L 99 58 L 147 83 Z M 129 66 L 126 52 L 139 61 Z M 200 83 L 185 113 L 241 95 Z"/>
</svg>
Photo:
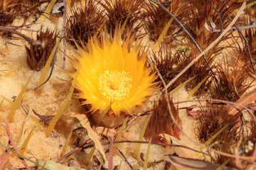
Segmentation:
<svg viewBox="0 0 256 170">
<path fill-rule="evenodd" d="M 98 4 L 92 0 L 86 0 L 85 6 L 71 8 L 72 16 L 68 18 L 67 33 L 69 39 L 74 39 L 81 46 L 80 41 L 87 44 L 88 39 L 97 34 L 105 23 L 103 11 L 98 9 Z M 69 41 L 72 45 L 75 42 Z"/>
</svg>

